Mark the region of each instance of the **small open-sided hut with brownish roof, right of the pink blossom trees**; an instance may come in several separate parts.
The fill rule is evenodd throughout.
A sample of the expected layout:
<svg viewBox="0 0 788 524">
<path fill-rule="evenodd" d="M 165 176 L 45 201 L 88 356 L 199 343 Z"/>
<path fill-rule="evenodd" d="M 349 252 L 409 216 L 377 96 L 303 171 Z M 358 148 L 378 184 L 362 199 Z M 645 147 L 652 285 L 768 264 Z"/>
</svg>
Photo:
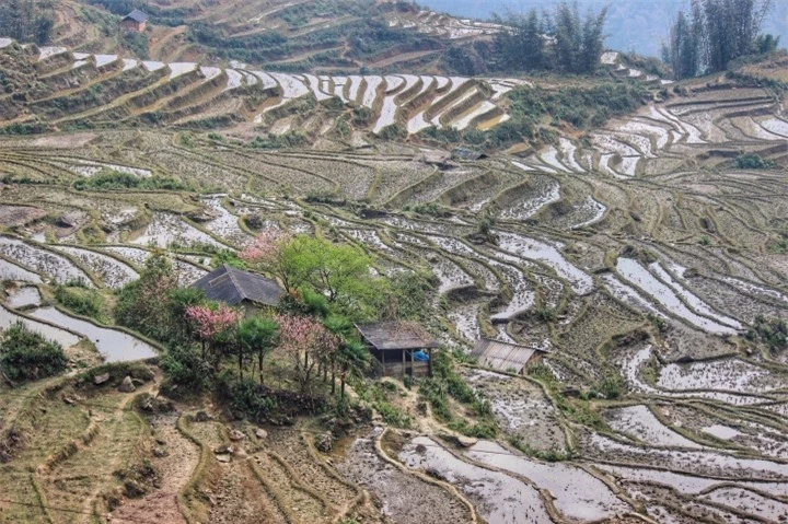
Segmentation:
<svg viewBox="0 0 788 524">
<path fill-rule="evenodd" d="M 440 345 L 421 326 L 410 322 L 357 325 L 381 375 L 432 376 L 432 350 Z"/>
</svg>

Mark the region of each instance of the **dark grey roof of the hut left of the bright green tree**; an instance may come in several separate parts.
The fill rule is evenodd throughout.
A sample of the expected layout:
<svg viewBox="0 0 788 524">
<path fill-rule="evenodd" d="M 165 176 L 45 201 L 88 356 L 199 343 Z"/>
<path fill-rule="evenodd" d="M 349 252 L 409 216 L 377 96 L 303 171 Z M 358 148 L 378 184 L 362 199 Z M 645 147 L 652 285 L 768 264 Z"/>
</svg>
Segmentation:
<svg viewBox="0 0 788 524">
<path fill-rule="evenodd" d="M 260 275 L 221 266 L 192 284 L 218 302 L 236 305 L 248 300 L 257 304 L 277 305 L 285 294 L 278 283 Z"/>
</svg>

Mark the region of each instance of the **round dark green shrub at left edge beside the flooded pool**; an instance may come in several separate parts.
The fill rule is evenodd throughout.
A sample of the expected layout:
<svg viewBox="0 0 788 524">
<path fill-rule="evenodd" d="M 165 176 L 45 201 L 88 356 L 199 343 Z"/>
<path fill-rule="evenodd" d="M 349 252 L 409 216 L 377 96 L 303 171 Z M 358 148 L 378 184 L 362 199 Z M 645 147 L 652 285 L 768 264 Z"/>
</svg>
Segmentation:
<svg viewBox="0 0 788 524">
<path fill-rule="evenodd" d="M 0 368 L 12 381 L 44 379 L 66 369 L 68 358 L 62 347 L 16 323 L 3 334 L 0 342 Z"/>
</svg>

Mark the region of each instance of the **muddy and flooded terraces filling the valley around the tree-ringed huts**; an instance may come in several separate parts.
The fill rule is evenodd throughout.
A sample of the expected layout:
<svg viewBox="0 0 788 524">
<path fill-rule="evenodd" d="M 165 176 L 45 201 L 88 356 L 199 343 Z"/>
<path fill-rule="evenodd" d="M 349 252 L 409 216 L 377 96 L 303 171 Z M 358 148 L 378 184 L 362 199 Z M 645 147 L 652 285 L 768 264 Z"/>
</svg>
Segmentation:
<svg viewBox="0 0 788 524">
<path fill-rule="evenodd" d="M 144 130 L 0 140 L 0 326 L 20 318 L 83 368 L 101 356 L 137 379 L 135 395 L 115 375 L 0 386 L 0 428 L 25 441 L 0 461 L 0 499 L 40 502 L 0 500 L 0 522 L 786 522 L 788 359 L 745 335 L 756 318 L 788 318 L 788 119 L 766 91 L 735 91 L 748 102 L 702 90 L 583 140 L 444 173 L 412 144 L 262 152 Z M 735 168 L 740 152 L 777 167 Z M 179 188 L 79 188 L 95 166 Z M 493 241 L 479 242 L 487 214 Z M 489 337 L 547 350 L 526 376 L 460 366 L 497 440 L 459 439 L 402 383 L 409 429 L 375 419 L 329 454 L 309 421 L 258 431 L 210 406 L 129 409 L 161 376 L 123 362 L 159 348 L 38 291 L 117 289 L 154 248 L 188 283 L 263 228 L 355 243 L 381 272 L 430 271 L 429 328 L 448 349 Z M 161 478 L 140 469 L 150 489 L 130 499 L 117 471 L 146 459 Z"/>
</svg>

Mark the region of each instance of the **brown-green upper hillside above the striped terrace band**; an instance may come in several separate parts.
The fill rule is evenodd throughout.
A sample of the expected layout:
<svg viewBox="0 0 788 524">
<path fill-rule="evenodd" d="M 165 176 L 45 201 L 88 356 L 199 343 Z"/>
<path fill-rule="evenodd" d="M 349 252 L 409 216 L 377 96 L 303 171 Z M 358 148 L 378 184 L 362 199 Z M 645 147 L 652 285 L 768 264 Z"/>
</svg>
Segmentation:
<svg viewBox="0 0 788 524">
<path fill-rule="evenodd" d="M 119 26 L 132 8 L 151 16 L 143 34 Z M 51 44 L 163 61 L 234 59 L 281 71 L 439 72 L 447 49 L 497 31 L 409 2 L 60 0 Z"/>
</svg>

